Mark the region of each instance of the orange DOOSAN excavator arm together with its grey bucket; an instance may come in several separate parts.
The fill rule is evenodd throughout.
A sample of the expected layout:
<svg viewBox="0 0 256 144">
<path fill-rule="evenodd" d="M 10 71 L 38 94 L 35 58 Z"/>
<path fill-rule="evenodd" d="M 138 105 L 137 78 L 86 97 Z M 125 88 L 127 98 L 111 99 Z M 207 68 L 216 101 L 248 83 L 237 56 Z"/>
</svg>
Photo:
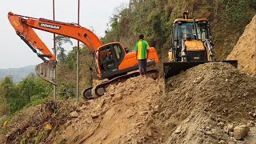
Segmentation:
<svg viewBox="0 0 256 144">
<path fill-rule="evenodd" d="M 54 82 L 56 58 L 45 43 L 42 42 L 41 38 L 38 37 L 34 29 L 77 39 L 94 52 L 102 46 L 102 42 L 92 31 L 73 23 L 57 22 L 45 18 L 31 18 L 11 12 L 8 13 L 8 19 L 14 27 L 16 34 L 42 59 L 43 63 L 35 68 L 36 73 L 39 77 L 54 85 L 56 85 Z M 38 50 L 41 53 L 38 53 Z"/>
</svg>

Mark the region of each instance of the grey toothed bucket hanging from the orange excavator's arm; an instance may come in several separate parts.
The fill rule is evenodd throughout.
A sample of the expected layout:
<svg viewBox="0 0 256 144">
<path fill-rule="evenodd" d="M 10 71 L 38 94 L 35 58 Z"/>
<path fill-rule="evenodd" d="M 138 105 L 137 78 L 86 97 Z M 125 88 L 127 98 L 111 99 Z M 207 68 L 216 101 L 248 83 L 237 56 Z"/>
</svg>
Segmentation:
<svg viewBox="0 0 256 144">
<path fill-rule="evenodd" d="M 47 82 L 50 82 L 57 86 L 54 78 L 54 69 L 56 67 L 56 62 L 43 62 L 35 66 L 35 72 L 38 76 Z"/>
</svg>

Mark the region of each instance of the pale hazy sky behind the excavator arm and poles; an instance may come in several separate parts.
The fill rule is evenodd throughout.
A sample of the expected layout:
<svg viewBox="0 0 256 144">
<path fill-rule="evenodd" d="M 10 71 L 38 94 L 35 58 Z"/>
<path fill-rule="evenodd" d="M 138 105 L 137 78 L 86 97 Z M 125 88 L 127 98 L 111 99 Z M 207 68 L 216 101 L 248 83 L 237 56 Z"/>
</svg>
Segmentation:
<svg viewBox="0 0 256 144">
<path fill-rule="evenodd" d="M 104 36 L 106 24 L 120 6 L 129 0 L 80 0 L 80 25 L 90 30 L 93 27 L 98 37 Z M 2 0 L 0 2 L 0 69 L 30 66 L 42 60 L 30 50 L 15 33 L 7 18 L 9 11 L 34 18 L 53 18 L 52 0 Z M 55 0 L 55 20 L 78 22 L 78 0 Z M 53 34 L 36 30 L 49 48 L 53 47 Z M 74 42 L 74 45 L 77 43 Z"/>
</svg>

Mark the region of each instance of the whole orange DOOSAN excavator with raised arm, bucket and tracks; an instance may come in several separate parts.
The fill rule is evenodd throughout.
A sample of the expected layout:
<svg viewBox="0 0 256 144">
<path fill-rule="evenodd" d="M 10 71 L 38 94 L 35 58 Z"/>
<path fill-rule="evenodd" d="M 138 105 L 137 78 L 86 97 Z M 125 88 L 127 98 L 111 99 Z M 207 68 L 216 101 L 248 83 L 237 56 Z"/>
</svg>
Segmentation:
<svg viewBox="0 0 256 144">
<path fill-rule="evenodd" d="M 57 22 L 45 18 L 31 18 L 11 12 L 8 13 L 8 18 L 16 34 L 42 59 L 43 63 L 35 68 L 38 76 L 54 85 L 56 85 L 54 69 L 57 60 L 45 43 L 38 37 L 38 34 L 34 32 L 34 29 L 77 39 L 94 52 L 97 77 L 99 79 L 107 78 L 107 80 L 83 90 L 82 94 L 86 99 L 102 96 L 106 91 L 106 86 L 109 86 L 112 82 L 138 75 L 138 72 L 134 71 L 138 70 L 136 53 L 129 52 L 120 42 L 111 42 L 103 45 L 92 31 L 74 23 Z M 158 54 L 154 47 L 150 47 L 147 66 L 157 63 Z M 157 72 L 157 70 L 149 71 L 149 73 Z"/>
</svg>

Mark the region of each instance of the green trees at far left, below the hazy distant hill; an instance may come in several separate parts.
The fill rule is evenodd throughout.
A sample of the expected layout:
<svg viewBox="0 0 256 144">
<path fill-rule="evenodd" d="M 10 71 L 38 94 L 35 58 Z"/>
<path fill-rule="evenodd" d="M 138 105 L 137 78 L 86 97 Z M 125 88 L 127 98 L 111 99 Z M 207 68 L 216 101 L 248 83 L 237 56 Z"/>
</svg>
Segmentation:
<svg viewBox="0 0 256 144">
<path fill-rule="evenodd" d="M 14 114 L 24 106 L 34 106 L 36 103 L 44 102 L 44 99 L 52 93 L 52 86 L 30 74 L 15 84 L 11 77 L 0 81 L 0 116 Z"/>
</svg>

